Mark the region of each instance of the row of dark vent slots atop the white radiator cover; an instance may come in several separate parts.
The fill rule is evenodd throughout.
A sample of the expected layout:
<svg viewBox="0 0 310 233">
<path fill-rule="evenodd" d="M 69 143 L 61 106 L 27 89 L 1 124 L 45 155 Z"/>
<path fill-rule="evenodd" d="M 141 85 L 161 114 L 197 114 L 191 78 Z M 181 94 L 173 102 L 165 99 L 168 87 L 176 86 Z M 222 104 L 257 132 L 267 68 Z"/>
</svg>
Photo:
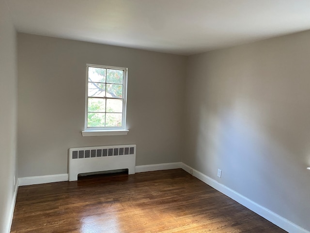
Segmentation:
<svg viewBox="0 0 310 233">
<path fill-rule="evenodd" d="M 96 150 L 73 150 L 72 159 L 95 158 L 134 154 L 134 147 L 101 148 Z"/>
</svg>

